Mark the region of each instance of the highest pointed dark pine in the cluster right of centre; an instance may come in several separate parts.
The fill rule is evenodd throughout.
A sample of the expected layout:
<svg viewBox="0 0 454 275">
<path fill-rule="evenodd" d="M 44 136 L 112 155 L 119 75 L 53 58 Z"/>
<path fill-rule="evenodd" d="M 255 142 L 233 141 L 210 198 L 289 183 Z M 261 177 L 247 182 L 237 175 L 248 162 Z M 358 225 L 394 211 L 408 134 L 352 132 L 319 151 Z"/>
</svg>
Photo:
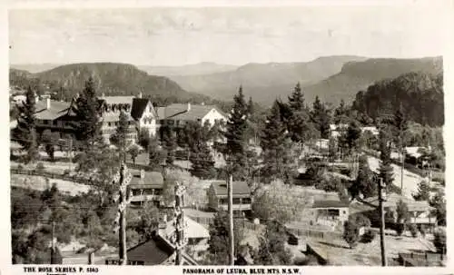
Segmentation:
<svg viewBox="0 0 454 275">
<path fill-rule="evenodd" d="M 287 122 L 287 128 L 291 141 L 300 142 L 302 145 L 313 137 L 310 114 L 304 104 L 304 94 L 301 92 L 301 85 L 297 83 L 293 93 L 289 96 L 289 109 L 291 115 Z"/>
</svg>

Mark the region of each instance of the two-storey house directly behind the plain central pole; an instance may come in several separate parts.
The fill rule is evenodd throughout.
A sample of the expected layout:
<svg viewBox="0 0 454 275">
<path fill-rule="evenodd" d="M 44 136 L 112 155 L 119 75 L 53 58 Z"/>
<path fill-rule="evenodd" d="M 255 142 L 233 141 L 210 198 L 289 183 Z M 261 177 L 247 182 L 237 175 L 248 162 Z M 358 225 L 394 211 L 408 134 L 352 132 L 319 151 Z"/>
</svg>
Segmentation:
<svg viewBox="0 0 454 275">
<path fill-rule="evenodd" d="M 212 182 L 208 189 L 208 206 L 214 211 L 227 211 L 227 182 L 215 181 Z M 251 189 L 247 182 L 232 183 L 232 206 L 233 214 L 248 215 L 252 211 L 252 195 Z"/>
</svg>

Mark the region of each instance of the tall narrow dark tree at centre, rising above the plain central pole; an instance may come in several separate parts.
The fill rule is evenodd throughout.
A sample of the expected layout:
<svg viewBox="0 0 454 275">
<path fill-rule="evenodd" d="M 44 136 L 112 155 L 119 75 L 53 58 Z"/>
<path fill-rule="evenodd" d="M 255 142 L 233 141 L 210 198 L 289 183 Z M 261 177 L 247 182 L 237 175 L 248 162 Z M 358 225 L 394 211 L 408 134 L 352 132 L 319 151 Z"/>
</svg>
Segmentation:
<svg viewBox="0 0 454 275">
<path fill-rule="evenodd" d="M 244 180 L 246 172 L 244 163 L 246 162 L 247 151 L 247 128 L 248 128 L 248 105 L 244 101 L 242 86 L 238 94 L 233 96 L 233 108 L 229 114 L 224 136 L 227 140 L 224 154 L 228 163 L 228 170 L 237 180 Z"/>
</svg>

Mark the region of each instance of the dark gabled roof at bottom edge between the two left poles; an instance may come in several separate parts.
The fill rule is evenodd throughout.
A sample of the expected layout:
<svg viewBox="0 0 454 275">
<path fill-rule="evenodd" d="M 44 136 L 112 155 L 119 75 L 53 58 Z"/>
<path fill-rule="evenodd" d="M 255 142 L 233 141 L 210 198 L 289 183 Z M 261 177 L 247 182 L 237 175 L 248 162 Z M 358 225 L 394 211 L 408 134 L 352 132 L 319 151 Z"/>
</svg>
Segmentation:
<svg viewBox="0 0 454 275">
<path fill-rule="evenodd" d="M 159 236 L 153 236 L 128 250 L 128 260 L 143 261 L 146 265 L 159 265 L 169 259 L 174 252 L 166 241 Z"/>
</svg>

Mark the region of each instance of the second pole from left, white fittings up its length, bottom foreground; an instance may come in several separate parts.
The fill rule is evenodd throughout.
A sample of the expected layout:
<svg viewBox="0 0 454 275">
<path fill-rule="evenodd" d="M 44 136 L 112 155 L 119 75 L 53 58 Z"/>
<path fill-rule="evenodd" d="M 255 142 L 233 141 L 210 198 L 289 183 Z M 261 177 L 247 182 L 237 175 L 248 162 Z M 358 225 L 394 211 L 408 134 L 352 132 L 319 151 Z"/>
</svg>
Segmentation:
<svg viewBox="0 0 454 275">
<path fill-rule="evenodd" d="M 175 206 L 174 206 L 174 214 L 175 218 L 173 219 L 173 224 L 175 227 L 175 235 L 173 236 L 173 244 L 175 245 L 176 250 L 176 258 L 175 258 L 175 265 L 182 265 L 183 264 L 183 248 L 187 244 L 187 238 L 184 232 L 186 227 L 184 221 L 184 198 L 183 194 L 186 192 L 186 187 L 180 182 L 176 182 L 175 187 Z"/>
</svg>

